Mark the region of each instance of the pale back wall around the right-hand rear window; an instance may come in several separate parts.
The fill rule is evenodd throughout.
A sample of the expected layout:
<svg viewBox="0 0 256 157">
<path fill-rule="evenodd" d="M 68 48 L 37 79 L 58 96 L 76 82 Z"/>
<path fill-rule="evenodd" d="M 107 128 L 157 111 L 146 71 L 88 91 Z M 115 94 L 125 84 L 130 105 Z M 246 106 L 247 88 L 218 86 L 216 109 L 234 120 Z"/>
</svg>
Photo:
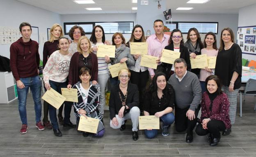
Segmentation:
<svg viewBox="0 0 256 157">
<path fill-rule="evenodd" d="M 238 15 L 234 14 L 172 14 L 173 22 L 219 22 L 218 34 L 216 35 L 217 47 L 219 47 L 219 40 L 221 31 L 225 27 L 230 27 L 236 34 L 238 27 Z M 203 41 L 205 34 L 201 34 Z M 183 38 L 187 38 L 187 34 L 183 34 Z M 236 41 L 236 36 L 235 36 Z"/>
</svg>

